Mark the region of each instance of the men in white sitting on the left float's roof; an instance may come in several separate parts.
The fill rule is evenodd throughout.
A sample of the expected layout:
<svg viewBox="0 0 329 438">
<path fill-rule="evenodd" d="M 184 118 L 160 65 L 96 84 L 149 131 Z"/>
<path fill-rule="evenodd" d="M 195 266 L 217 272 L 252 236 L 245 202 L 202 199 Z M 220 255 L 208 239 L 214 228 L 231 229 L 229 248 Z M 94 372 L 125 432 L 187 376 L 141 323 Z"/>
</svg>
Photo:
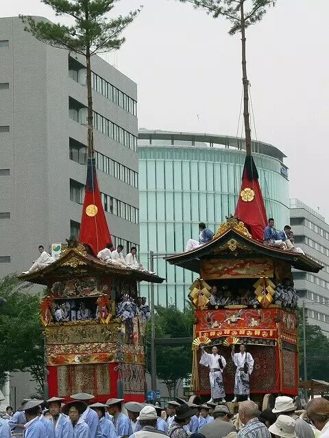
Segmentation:
<svg viewBox="0 0 329 438">
<path fill-rule="evenodd" d="M 85 245 L 85 248 L 87 253 L 93 255 L 93 251 L 90 250 L 90 247 L 88 245 Z M 45 248 L 42 245 L 38 246 L 38 251 L 40 253 L 38 259 L 36 259 L 32 263 L 32 266 L 31 268 L 29 268 L 29 270 L 22 272 L 22 274 L 31 274 L 32 272 L 36 272 L 42 268 L 46 268 L 55 261 L 55 259 L 45 251 Z M 155 272 L 148 270 L 138 261 L 136 254 L 136 246 L 132 246 L 130 248 L 130 253 L 127 253 L 127 255 L 124 257 L 123 245 L 118 245 L 117 249 L 114 249 L 114 245 L 108 243 L 106 244 L 106 248 L 103 248 L 99 251 L 99 253 L 97 254 L 97 258 L 104 263 L 108 263 L 112 266 L 140 270 L 141 272 L 147 272 L 148 274 L 155 274 Z"/>
</svg>

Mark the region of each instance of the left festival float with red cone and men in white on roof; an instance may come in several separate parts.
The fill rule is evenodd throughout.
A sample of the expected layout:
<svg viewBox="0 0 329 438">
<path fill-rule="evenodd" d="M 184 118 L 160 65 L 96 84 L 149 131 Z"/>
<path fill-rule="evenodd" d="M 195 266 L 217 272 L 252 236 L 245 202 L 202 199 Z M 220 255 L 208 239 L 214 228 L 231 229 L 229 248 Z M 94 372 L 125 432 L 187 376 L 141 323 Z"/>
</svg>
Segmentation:
<svg viewBox="0 0 329 438">
<path fill-rule="evenodd" d="M 108 242 L 95 159 L 89 158 L 78 241 L 70 238 L 53 263 L 20 277 L 46 287 L 40 319 L 49 397 L 86 392 L 99 402 L 145 400 L 145 320 L 135 303 L 139 282 L 163 279 L 97 259 Z M 122 307 L 126 313 L 118 313 Z M 61 313 L 66 318 L 56 318 Z"/>
</svg>

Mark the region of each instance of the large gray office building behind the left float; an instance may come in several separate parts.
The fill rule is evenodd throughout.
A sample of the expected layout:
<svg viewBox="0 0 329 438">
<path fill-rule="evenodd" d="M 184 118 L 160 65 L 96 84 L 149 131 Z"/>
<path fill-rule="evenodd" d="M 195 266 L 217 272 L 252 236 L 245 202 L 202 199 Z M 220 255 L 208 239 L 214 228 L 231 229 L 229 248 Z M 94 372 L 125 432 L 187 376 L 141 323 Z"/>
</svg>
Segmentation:
<svg viewBox="0 0 329 438">
<path fill-rule="evenodd" d="M 45 18 L 40 18 L 45 20 Z M 94 56 L 95 150 L 114 244 L 139 244 L 136 83 Z M 27 270 L 38 245 L 77 235 L 86 178 L 84 57 L 0 18 L 0 278 Z M 11 402 L 32 392 L 12 376 Z M 16 388 L 16 392 L 15 392 Z M 8 392 L 4 390 L 5 393 Z"/>
</svg>

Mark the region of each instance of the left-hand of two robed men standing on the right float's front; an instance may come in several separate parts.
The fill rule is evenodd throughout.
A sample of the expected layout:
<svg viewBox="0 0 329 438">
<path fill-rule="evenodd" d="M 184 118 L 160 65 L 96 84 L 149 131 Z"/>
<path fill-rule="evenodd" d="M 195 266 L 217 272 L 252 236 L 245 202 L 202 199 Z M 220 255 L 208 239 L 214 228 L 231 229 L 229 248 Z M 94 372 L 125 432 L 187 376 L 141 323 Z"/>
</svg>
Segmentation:
<svg viewBox="0 0 329 438">
<path fill-rule="evenodd" d="M 212 354 L 210 355 L 204 351 L 204 346 L 202 348 L 202 356 L 200 359 L 200 364 L 210 368 L 209 380 L 210 380 L 210 390 L 211 398 L 210 402 L 218 400 L 225 402 L 225 390 L 223 387 L 223 370 L 226 367 L 226 360 L 223 356 L 218 354 L 217 346 L 212 347 Z"/>
</svg>

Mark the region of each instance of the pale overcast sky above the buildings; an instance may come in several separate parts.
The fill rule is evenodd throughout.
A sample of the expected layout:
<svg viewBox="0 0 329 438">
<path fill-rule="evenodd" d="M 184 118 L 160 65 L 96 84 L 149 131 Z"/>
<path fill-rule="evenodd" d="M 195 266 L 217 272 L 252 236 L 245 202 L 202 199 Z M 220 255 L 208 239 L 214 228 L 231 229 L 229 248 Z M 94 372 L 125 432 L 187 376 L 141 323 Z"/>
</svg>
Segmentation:
<svg viewBox="0 0 329 438">
<path fill-rule="evenodd" d="M 247 29 L 247 68 L 257 137 L 288 158 L 290 196 L 329 218 L 329 1 L 278 0 Z M 175 0 L 121 0 L 115 14 L 143 4 L 121 51 L 106 59 L 138 84 L 139 126 L 236 135 L 241 41 L 229 23 Z M 2 16 L 46 16 L 39 0 L 1 2 Z M 252 137 L 255 138 L 254 129 Z"/>
</svg>

